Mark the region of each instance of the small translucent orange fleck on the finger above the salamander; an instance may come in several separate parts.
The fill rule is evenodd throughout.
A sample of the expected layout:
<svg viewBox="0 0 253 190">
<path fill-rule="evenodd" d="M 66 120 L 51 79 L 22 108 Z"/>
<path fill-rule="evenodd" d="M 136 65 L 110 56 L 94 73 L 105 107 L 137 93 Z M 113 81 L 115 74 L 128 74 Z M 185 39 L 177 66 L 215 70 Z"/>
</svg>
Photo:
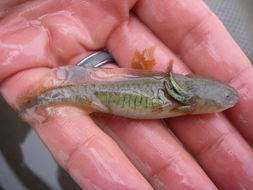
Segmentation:
<svg viewBox="0 0 253 190">
<path fill-rule="evenodd" d="M 136 50 L 132 58 L 132 68 L 152 70 L 156 64 L 154 59 L 155 46 L 145 48 L 142 52 Z"/>
</svg>

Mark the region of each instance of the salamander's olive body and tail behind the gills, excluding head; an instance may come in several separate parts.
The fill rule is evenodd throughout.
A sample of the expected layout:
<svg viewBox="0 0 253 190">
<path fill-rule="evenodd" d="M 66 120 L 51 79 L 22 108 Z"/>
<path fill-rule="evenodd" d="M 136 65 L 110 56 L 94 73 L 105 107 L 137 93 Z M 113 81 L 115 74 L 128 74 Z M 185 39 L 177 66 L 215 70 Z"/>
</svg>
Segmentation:
<svg viewBox="0 0 253 190">
<path fill-rule="evenodd" d="M 166 95 L 163 76 L 140 77 L 118 81 L 90 81 L 48 90 L 26 104 L 73 104 L 94 112 L 111 113 L 129 118 L 165 118 L 180 115 L 171 110 L 178 105 Z"/>
</svg>

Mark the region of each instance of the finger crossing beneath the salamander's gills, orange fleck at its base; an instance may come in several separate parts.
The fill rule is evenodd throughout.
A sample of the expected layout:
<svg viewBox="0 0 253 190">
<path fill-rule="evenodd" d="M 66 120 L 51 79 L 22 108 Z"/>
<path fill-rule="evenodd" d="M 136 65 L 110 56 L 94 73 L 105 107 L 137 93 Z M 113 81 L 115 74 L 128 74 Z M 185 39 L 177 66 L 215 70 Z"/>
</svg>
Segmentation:
<svg viewBox="0 0 253 190">
<path fill-rule="evenodd" d="M 122 67 L 129 67 L 134 55 L 133 51 L 136 49 L 142 51 L 150 46 L 155 46 L 155 69 L 161 70 L 166 68 L 164 64 L 168 64 L 168 61 L 164 60 L 171 59 L 173 55 L 164 53 L 169 52 L 169 49 L 164 49 L 163 45 L 160 46 L 161 42 L 154 38 L 155 36 L 140 22 L 130 19 L 111 35 L 108 48 Z M 125 42 L 124 46 L 117 46 L 119 42 Z M 175 59 L 174 62 L 175 67 L 182 64 L 178 59 Z M 177 68 L 180 72 L 183 66 Z M 179 117 L 170 119 L 169 127 L 192 151 L 193 156 L 201 163 L 207 175 L 218 187 L 239 189 L 241 184 L 245 184 L 246 189 L 252 187 L 252 150 L 223 116 L 210 114 Z M 245 156 L 242 157 L 242 153 Z M 210 159 L 214 157 L 215 159 Z M 224 165 L 227 167 L 223 167 Z M 239 178 L 238 175 L 243 177 Z"/>
</svg>

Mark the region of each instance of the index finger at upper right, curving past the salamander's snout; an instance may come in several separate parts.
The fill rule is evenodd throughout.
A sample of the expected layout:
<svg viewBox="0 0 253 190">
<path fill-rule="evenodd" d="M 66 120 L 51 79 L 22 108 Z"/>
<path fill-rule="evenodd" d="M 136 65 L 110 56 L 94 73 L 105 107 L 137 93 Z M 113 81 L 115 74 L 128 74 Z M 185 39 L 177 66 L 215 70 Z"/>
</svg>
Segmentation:
<svg viewBox="0 0 253 190">
<path fill-rule="evenodd" d="M 253 144 L 253 68 L 203 1 L 138 1 L 138 17 L 196 73 L 230 82 L 240 100 L 228 116 Z"/>
</svg>

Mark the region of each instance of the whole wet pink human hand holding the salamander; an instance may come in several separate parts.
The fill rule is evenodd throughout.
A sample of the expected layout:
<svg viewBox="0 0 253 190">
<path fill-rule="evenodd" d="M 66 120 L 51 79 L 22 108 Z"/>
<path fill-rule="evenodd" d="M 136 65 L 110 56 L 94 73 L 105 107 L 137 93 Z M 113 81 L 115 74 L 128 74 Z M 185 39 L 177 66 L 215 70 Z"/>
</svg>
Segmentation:
<svg viewBox="0 0 253 190">
<path fill-rule="evenodd" d="M 0 21 L 1 93 L 10 105 L 49 68 L 73 64 L 80 55 L 102 47 L 109 49 L 121 67 L 130 67 L 136 49 L 155 46 L 154 70 L 166 70 L 168 60 L 173 59 L 175 72 L 187 73 L 188 66 L 198 74 L 230 83 L 240 94 L 239 103 L 226 117 L 210 114 L 166 120 L 200 166 L 161 121 L 97 114 L 93 118 L 101 131 L 80 109 L 62 106 L 50 115 L 46 112 L 47 119 L 33 127 L 82 188 L 253 188 L 253 153 L 247 145 L 253 142 L 253 69 L 202 1 L 27 1 L 12 5 L 1 7 Z M 135 16 L 129 17 L 131 8 Z"/>
</svg>

